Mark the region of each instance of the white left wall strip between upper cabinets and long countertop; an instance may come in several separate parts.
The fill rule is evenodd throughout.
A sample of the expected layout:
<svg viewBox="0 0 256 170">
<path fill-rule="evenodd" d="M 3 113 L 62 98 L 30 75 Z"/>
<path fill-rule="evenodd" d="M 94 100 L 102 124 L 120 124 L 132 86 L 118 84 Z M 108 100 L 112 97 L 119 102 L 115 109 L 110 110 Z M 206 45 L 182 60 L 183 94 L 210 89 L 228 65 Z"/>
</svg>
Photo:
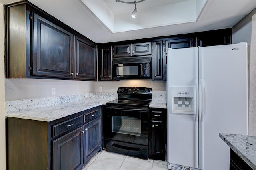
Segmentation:
<svg viewBox="0 0 256 170">
<path fill-rule="evenodd" d="M 52 95 L 52 87 L 56 94 Z M 93 93 L 92 81 L 5 79 L 5 101 Z"/>
</svg>

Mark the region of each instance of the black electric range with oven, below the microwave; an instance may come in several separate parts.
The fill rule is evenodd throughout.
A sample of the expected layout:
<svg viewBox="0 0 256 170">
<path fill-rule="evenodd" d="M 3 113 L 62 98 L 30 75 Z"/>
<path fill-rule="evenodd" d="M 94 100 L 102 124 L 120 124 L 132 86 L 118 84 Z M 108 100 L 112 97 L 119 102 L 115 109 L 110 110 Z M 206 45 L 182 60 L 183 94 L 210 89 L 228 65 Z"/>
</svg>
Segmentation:
<svg viewBox="0 0 256 170">
<path fill-rule="evenodd" d="M 106 103 L 106 150 L 148 158 L 148 106 L 152 89 L 119 87 L 118 99 Z"/>
</svg>

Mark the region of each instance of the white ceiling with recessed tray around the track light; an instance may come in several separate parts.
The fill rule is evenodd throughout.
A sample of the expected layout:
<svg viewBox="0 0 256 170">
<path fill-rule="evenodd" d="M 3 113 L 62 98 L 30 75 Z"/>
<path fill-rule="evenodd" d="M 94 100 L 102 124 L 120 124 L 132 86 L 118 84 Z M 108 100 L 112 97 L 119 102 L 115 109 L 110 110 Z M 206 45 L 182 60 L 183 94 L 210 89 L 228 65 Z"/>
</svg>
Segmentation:
<svg viewBox="0 0 256 170">
<path fill-rule="evenodd" d="M 134 4 L 116 0 L 29 1 L 96 43 L 231 28 L 256 8 L 256 0 L 145 0 L 132 18 Z"/>
</svg>

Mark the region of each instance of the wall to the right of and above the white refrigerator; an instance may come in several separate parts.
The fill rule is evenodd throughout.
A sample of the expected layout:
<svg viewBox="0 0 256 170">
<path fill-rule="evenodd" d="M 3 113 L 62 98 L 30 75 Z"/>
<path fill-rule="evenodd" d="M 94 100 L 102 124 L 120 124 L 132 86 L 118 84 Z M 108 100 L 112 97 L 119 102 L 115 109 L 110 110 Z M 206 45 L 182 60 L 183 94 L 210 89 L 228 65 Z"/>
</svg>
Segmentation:
<svg viewBox="0 0 256 170">
<path fill-rule="evenodd" d="M 256 9 L 233 27 L 232 43 L 248 43 L 248 133 L 256 136 Z"/>
</svg>

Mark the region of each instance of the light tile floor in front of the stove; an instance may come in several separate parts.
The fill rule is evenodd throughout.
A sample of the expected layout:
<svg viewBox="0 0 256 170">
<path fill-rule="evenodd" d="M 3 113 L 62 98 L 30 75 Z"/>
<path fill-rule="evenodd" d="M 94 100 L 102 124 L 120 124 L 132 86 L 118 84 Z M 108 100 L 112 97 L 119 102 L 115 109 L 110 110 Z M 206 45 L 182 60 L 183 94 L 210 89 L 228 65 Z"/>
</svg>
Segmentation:
<svg viewBox="0 0 256 170">
<path fill-rule="evenodd" d="M 112 152 L 98 152 L 82 170 L 168 170 L 167 162 L 143 160 Z"/>
</svg>

